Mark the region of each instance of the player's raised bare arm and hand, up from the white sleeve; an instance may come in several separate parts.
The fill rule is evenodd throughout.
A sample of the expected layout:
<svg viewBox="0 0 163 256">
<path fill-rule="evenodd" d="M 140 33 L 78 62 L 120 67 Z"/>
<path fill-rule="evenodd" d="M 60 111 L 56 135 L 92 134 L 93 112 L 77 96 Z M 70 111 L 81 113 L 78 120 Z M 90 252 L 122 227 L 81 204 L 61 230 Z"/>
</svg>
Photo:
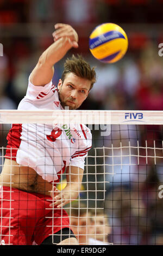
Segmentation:
<svg viewBox="0 0 163 256">
<path fill-rule="evenodd" d="M 30 82 L 35 86 L 48 84 L 53 78 L 54 64 L 60 61 L 71 47 L 78 47 L 78 34 L 70 25 L 57 23 L 54 27 L 54 43 L 42 53 L 30 75 Z"/>
</svg>

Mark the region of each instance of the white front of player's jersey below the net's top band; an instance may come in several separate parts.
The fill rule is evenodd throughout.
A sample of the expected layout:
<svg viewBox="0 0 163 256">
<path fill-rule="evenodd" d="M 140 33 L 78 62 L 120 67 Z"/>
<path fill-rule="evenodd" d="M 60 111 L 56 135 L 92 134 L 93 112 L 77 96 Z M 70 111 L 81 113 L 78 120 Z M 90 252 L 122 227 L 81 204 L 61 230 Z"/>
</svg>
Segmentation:
<svg viewBox="0 0 163 256">
<path fill-rule="evenodd" d="M 49 182 L 58 180 L 58 172 L 70 165 L 83 137 L 78 124 L 22 124 L 16 161 L 29 164 Z"/>
</svg>

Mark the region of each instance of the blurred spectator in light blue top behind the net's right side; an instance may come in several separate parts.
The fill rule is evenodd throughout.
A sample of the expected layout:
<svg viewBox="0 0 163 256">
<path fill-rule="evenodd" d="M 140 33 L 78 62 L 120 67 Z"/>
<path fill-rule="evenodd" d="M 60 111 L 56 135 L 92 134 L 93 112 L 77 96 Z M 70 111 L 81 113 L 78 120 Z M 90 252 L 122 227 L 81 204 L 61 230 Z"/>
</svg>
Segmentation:
<svg viewBox="0 0 163 256">
<path fill-rule="evenodd" d="M 112 125 L 111 134 L 104 137 L 105 179 L 108 191 L 116 186 L 130 188 L 133 182 L 139 181 L 139 159 L 137 140 L 139 129 L 133 125 Z M 130 156 L 132 155 L 132 156 Z M 111 156 L 111 157 L 110 157 Z"/>
</svg>

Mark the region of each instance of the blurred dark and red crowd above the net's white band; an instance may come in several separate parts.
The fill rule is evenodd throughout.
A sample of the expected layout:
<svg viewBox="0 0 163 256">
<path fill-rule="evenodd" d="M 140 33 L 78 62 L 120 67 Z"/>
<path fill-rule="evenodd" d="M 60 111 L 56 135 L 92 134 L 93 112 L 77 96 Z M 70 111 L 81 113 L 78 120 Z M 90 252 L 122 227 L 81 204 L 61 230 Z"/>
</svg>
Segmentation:
<svg viewBox="0 0 163 256">
<path fill-rule="evenodd" d="M 146 32 L 136 30 L 136 22 L 146 22 L 153 5 L 149 4 L 151 2 L 149 0 L 126 0 L 123 1 L 123 5 L 121 2 L 121 0 L 1 1 L 0 42 L 4 47 L 4 56 L 0 58 L 0 108 L 17 108 L 26 94 L 30 72 L 35 67 L 40 54 L 53 43 L 54 24 L 64 22 L 74 26 L 79 34 L 79 49 L 71 50 L 67 56 L 72 53 L 83 53 L 91 66 L 96 66 L 97 83 L 82 108 L 163 110 L 163 61 L 158 54 L 158 45 L 163 39 L 163 33 L 158 33 L 156 29 L 150 30 L 150 23 L 146 24 L 148 25 Z M 158 1 L 159 3 L 161 1 Z M 145 6 L 148 6 L 146 10 L 143 9 Z M 156 6 L 157 4 L 153 9 L 156 9 Z M 121 15 L 117 17 L 116 11 L 120 9 L 118 7 L 121 7 Z M 115 22 L 121 25 L 122 22 L 127 22 L 122 15 L 124 10 L 131 16 L 131 10 L 135 10 L 136 13 L 137 8 L 140 10 L 139 19 L 135 16 L 135 24 L 131 28 L 127 25 L 123 27 L 129 39 L 126 56 L 114 64 L 103 64 L 93 58 L 89 52 L 89 35 L 92 29 L 102 22 Z M 160 10 L 159 5 L 156 10 Z M 144 20 L 140 19 L 141 11 Z M 53 82 L 56 85 L 62 73 L 64 60 L 65 58 L 55 67 Z"/>
</svg>

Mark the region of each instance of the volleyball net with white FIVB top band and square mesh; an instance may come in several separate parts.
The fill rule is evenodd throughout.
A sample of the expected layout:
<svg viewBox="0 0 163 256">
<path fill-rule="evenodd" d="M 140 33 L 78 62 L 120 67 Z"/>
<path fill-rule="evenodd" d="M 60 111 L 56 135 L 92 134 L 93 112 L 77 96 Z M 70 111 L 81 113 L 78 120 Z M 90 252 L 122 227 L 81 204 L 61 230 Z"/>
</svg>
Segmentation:
<svg viewBox="0 0 163 256">
<path fill-rule="evenodd" d="M 67 227 L 66 222 L 59 221 L 60 217 L 67 221 L 65 212 L 69 216 L 70 227 L 79 245 L 163 244 L 163 111 L 2 110 L 0 114 L 0 172 L 2 169 L 5 171 L 5 176 L 1 175 L 0 191 L 1 245 L 12 245 L 13 241 L 17 241 L 17 244 L 36 245 L 47 229 L 48 235 L 53 237 L 52 242 L 58 243 L 56 230 L 59 230 L 59 227 Z M 76 200 L 70 198 L 70 203 L 60 210 L 55 206 L 50 209 L 49 203 L 54 203 L 55 200 L 50 197 L 43 198 L 43 192 L 40 190 L 42 184 L 38 184 L 42 180 L 35 178 L 33 169 L 37 170 L 37 166 L 34 166 L 34 162 L 24 164 L 24 169 L 18 169 L 15 162 L 12 165 L 9 162 L 4 165 L 6 151 L 10 150 L 15 156 L 17 150 L 17 147 L 7 147 L 11 124 L 17 124 L 19 133 L 22 133 L 22 130 L 18 124 L 27 125 L 29 129 L 24 132 L 23 138 L 26 145 L 30 144 L 31 140 L 34 142 L 32 156 L 39 157 L 37 163 L 47 173 L 47 152 L 52 148 L 42 147 L 45 141 L 40 133 L 45 134 L 47 138 L 49 128 L 53 130 L 54 126 L 63 127 L 66 124 L 67 128 L 62 128 L 62 133 L 68 134 L 65 136 L 71 148 L 76 147 L 76 153 L 70 154 L 70 158 L 77 155 L 79 157 L 79 154 L 86 156 L 82 185 L 76 188 Z M 81 148 L 76 146 L 79 145 L 78 140 L 81 140 L 81 131 L 75 130 L 73 124 L 86 124 L 91 130 L 92 147 L 89 151 L 82 149 L 80 152 Z M 86 133 L 86 130 L 82 132 Z M 55 130 L 54 134 L 57 133 L 58 130 Z M 55 136 L 55 139 L 57 138 Z M 65 145 L 62 141 L 58 143 L 60 148 Z M 61 150 L 62 158 L 65 159 L 67 149 Z M 52 160 L 55 162 L 56 158 L 54 153 Z M 55 165 L 60 166 L 62 159 L 57 159 Z M 27 159 L 24 162 L 27 163 Z M 79 168 L 78 171 L 76 175 L 79 177 Z M 71 188 L 73 181 L 67 179 L 66 168 L 58 173 L 60 180 L 56 186 L 62 194 L 67 186 Z M 43 186 L 47 191 L 49 187 Z M 40 222 L 42 218 L 44 221 Z M 14 236 L 17 240 L 13 240 Z M 37 239 L 32 238 L 35 236 Z"/>
</svg>

